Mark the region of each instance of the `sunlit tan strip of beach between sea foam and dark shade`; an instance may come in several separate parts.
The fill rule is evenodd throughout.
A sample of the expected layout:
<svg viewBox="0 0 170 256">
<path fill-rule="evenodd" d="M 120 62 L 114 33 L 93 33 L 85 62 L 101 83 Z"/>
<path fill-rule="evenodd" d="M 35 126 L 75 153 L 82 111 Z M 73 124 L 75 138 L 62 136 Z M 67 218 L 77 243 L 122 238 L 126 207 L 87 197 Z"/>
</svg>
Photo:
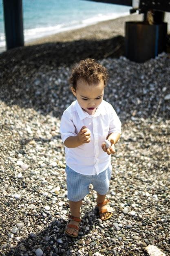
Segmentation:
<svg viewBox="0 0 170 256">
<path fill-rule="evenodd" d="M 131 14 L 128 16 L 121 16 L 112 20 L 105 20 L 97 22 L 93 25 L 85 27 L 70 29 L 68 31 L 61 31 L 49 36 L 43 36 L 41 38 L 29 40 L 24 42 L 24 46 L 40 45 L 43 43 L 55 43 L 55 42 L 70 42 L 72 40 L 101 40 L 109 39 L 115 36 L 125 35 L 125 22 L 127 21 L 141 21 L 143 14 Z M 0 47 L 0 54 L 6 51 L 6 46 Z"/>
</svg>

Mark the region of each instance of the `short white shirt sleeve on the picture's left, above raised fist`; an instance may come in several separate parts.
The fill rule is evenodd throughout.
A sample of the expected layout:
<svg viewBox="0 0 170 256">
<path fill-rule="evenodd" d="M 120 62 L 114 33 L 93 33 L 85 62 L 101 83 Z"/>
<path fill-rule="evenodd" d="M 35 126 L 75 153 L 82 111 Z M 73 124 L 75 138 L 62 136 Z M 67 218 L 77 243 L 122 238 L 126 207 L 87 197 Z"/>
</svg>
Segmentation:
<svg viewBox="0 0 170 256">
<path fill-rule="evenodd" d="M 77 136 L 75 132 L 75 125 L 73 124 L 71 115 L 67 110 L 65 110 L 62 115 L 60 133 L 63 143 L 68 137 Z"/>
</svg>

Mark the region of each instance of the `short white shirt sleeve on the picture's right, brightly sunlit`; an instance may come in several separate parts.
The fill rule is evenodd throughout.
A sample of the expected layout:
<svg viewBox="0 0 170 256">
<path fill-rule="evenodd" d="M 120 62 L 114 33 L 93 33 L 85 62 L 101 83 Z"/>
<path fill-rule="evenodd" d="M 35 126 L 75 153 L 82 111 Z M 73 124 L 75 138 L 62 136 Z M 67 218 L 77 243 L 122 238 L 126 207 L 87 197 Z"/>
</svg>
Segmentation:
<svg viewBox="0 0 170 256">
<path fill-rule="evenodd" d="M 110 126 L 109 126 L 109 134 L 112 132 L 117 132 L 121 134 L 121 121 L 116 114 L 116 111 L 110 105 Z"/>
</svg>

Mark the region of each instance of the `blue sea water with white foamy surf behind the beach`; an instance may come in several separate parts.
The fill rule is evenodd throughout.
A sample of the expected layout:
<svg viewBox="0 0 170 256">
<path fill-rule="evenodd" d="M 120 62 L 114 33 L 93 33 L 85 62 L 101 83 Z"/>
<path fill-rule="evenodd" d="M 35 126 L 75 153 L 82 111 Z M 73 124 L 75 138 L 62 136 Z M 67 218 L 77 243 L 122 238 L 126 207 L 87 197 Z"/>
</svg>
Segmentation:
<svg viewBox="0 0 170 256">
<path fill-rule="evenodd" d="M 129 7 L 85 0 L 22 0 L 24 41 L 86 27 L 129 14 Z M 0 47 L 5 46 L 0 0 Z"/>
</svg>

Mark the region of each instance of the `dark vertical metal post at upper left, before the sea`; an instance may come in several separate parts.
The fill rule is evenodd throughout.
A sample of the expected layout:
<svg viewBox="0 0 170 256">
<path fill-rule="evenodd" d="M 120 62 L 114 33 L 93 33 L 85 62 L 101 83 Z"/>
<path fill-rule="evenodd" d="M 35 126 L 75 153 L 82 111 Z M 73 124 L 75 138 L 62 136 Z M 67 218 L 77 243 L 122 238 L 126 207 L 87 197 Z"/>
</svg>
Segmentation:
<svg viewBox="0 0 170 256">
<path fill-rule="evenodd" d="M 7 50 L 24 45 L 22 0 L 3 0 Z"/>
</svg>

